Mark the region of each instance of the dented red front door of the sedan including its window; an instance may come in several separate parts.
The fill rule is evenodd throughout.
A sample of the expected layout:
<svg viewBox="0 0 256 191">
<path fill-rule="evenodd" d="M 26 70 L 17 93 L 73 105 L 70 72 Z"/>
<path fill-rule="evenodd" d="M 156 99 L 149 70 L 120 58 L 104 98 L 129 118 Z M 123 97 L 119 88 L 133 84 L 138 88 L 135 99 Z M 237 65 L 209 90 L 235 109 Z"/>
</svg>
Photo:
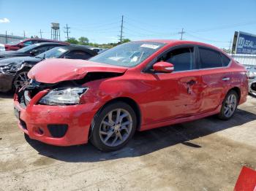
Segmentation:
<svg viewBox="0 0 256 191">
<path fill-rule="evenodd" d="M 149 83 L 156 88 L 156 97 L 151 100 L 148 112 L 151 112 L 152 122 L 171 120 L 197 114 L 200 108 L 201 77 L 193 73 L 195 69 L 195 47 L 176 47 L 159 56 L 157 62 L 172 63 L 172 73 L 148 74 Z M 153 97 L 153 96 L 152 96 Z M 155 106 L 154 104 L 157 104 Z M 154 112 L 154 114 L 152 114 Z M 149 114 L 149 113 L 148 113 Z"/>
</svg>

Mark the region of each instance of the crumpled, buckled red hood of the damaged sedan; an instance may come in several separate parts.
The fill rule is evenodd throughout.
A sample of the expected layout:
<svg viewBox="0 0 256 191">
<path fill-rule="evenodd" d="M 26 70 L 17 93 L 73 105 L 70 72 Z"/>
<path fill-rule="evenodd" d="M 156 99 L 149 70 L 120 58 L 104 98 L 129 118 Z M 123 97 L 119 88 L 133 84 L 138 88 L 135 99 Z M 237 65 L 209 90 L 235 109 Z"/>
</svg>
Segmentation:
<svg viewBox="0 0 256 191">
<path fill-rule="evenodd" d="M 82 79 L 89 72 L 124 73 L 127 67 L 113 66 L 83 60 L 53 58 L 39 62 L 29 71 L 29 78 L 37 82 L 53 84 L 56 82 Z"/>
</svg>

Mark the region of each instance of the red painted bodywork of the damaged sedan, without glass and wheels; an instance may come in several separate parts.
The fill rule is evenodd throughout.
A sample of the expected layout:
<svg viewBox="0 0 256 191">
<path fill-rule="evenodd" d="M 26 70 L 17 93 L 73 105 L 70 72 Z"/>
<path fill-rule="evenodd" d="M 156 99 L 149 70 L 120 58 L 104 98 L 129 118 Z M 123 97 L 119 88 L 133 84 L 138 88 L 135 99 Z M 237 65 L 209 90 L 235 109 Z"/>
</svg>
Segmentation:
<svg viewBox="0 0 256 191">
<path fill-rule="evenodd" d="M 176 45 L 199 44 L 218 50 L 216 47 L 198 42 L 165 40 L 152 42 L 165 42 L 166 45 L 134 68 L 69 59 L 49 59 L 34 66 L 29 72 L 29 77 L 45 83 L 80 79 L 93 71 L 112 71 L 123 75 L 86 82 L 83 86 L 89 87 L 89 90 L 82 96 L 78 106 L 38 105 L 37 101 L 45 92 L 38 93 L 32 98 L 26 109 L 22 109 L 18 101 L 15 101 L 15 106 L 21 110 L 20 119 L 25 121 L 28 127 L 28 131 L 24 130 L 25 133 L 28 133 L 32 139 L 48 144 L 66 146 L 86 143 L 94 115 L 102 106 L 115 98 L 129 98 L 135 101 L 140 110 L 139 130 L 159 128 L 217 114 L 225 95 L 233 87 L 241 92 L 239 104 L 246 101 L 248 93 L 246 69 L 232 58 L 230 58 L 232 63 L 226 68 L 170 74 L 144 73 L 143 69 L 148 63 Z M 218 51 L 222 52 L 222 50 Z M 230 81 L 223 81 L 223 77 L 230 77 Z M 195 83 L 188 85 L 187 82 L 192 80 Z M 53 139 L 48 130 L 40 136 L 34 133 L 37 128 L 45 129 L 46 125 L 56 122 L 69 125 L 64 138 Z"/>
</svg>

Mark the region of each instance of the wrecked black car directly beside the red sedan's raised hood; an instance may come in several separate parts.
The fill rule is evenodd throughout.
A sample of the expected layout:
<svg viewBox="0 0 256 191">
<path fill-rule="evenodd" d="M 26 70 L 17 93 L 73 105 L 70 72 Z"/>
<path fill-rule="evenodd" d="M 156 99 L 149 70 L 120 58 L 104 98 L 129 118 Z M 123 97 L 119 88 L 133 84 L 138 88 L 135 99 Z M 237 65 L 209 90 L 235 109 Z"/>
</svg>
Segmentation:
<svg viewBox="0 0 256 191">
<path fill-rule="evenodd" d="M 47 52 L 43 52 L 35 57 L 15 57 L 0 60 L 0 92 L 8 92 L 16 88 L 23 87 L 29 83 L 27 74 L 29 70 L 42 60 L 48 58 L 67 58 L 87 60 L 97 52 L 78 45 L 67 45 L 54 47 Z"/>
</svg>

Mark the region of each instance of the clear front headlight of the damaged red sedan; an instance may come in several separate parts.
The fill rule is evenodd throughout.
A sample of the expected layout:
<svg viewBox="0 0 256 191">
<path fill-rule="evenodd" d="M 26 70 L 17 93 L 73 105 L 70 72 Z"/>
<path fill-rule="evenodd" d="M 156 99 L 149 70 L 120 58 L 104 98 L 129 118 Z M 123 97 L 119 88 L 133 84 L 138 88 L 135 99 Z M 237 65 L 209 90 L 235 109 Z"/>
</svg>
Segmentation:
<svg viewBox="0 0 256 191">
<path fill-rule="evenodd" d="M 88 87 L 56 88 L 50 90 L 42 97 L 39 104 L 50 106 L 67 106 L 80 103 L 80 96 L 88 90 Z"/>
</svg>

